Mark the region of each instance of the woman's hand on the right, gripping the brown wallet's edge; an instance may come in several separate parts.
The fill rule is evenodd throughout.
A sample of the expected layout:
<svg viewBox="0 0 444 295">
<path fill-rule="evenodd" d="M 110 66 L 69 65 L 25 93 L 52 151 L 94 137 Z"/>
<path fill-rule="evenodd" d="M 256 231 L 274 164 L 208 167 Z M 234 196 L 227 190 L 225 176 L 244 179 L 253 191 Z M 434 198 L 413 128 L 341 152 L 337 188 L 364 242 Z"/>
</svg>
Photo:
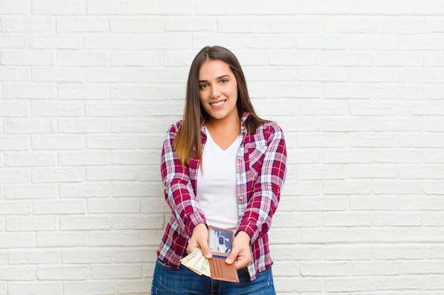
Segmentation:
<svg viewBox="0 0 444 295">
<path fill-rule="evenodd" d="M 231 265 L 234 262 L 236 269 L 248 267 L 251 262 L 250 236 L 245 231 L 240 231 L 233 240 L 231 253 L 225 260 L 226 264 Z"/>
</svg>

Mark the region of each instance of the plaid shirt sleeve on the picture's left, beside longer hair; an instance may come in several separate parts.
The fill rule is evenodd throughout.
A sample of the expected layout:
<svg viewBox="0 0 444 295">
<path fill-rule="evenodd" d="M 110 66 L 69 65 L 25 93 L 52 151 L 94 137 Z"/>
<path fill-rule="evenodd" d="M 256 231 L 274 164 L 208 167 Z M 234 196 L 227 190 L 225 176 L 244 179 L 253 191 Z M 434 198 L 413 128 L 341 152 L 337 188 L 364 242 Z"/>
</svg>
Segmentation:
<svg viewBox="0 0 444 295">
<path fill-rule="evenodd" d="M 189 166 L 181 164 L 172 146 L 178 129 L 177 124 L 171 126 L 165 136 L 160 170 L 165 188 L 165 200 L 177 219 L 177 226 L 182 233 L 191 237 L 194 226 L 206 221 L 194 194 Z"/>
</svg>

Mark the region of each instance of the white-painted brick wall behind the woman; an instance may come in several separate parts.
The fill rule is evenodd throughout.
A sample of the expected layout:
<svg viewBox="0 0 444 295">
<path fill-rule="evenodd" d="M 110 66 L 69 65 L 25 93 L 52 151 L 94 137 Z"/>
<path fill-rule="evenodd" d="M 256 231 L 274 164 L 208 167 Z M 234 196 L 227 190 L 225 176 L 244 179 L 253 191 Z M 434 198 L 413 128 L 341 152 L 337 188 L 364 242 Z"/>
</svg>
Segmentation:
<svg viewBox="0 0 444 295">
<path fill-rule="evenodd" d="M 0 0 L 0 295 L 150 294 L 204 45 L 287 137 L 278 294 L 444 294 L 444 1 Z"/>
</svg>

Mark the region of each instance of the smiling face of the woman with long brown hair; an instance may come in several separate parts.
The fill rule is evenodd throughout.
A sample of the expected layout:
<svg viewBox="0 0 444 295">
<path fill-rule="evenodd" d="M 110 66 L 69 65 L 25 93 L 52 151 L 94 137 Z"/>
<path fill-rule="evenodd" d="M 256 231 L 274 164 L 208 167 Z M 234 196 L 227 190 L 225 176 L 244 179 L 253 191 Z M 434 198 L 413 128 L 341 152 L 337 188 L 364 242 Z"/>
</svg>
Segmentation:
<svg viewBox="0 0 444 295">
<path fill-rule="evenodd" d="M 199 69 L 199 98 L 211 123 L 238 120 L 238 83 L 230 66 L 206 60 Z"/>
</svg>

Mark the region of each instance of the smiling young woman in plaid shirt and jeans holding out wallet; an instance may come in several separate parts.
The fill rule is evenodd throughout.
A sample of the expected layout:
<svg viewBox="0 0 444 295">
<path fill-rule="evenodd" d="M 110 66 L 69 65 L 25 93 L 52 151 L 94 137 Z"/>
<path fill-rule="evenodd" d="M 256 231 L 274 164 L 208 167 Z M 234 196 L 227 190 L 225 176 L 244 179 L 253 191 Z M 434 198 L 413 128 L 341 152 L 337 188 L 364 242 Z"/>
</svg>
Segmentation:
<svg viewBox="0 0 444 295">
<path fill-rule="evenodd" d="M 256 115 L 238 59 L 226 48 L 203 48 L 189 69 L 184 118 L 163 144 L 172 217 L 157 250 L 152 294 L 275 294 L 267 233 L 286 162 L 282 130 Z M 199 247 L 211 257 L 208 226 L 234 231 L 226 263 L 234 263 L 240 283 L 181 267 Z"/>
</svg>

